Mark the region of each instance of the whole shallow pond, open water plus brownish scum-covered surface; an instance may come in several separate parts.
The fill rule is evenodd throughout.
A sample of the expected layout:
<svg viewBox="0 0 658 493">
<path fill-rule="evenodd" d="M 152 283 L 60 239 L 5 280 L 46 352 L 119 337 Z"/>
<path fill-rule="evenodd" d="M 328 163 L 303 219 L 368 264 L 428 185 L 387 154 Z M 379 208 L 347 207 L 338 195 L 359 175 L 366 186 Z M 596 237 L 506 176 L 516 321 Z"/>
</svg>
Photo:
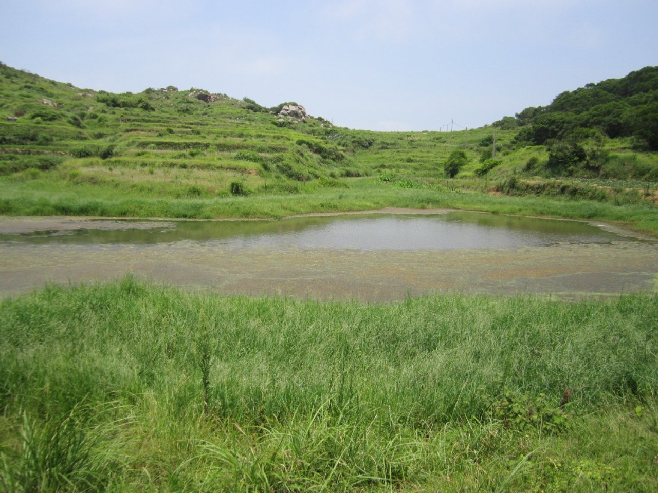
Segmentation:
<svg viewBox="0 0 658 493">
<path fill-rule="evenodd" d="M 658 246 L 600 224 L 474 212 L 281 221 L 0 220 L 0 294 L 125 272 L 186 289 L 395 300 L 655 291 Z"/>
</svg>

